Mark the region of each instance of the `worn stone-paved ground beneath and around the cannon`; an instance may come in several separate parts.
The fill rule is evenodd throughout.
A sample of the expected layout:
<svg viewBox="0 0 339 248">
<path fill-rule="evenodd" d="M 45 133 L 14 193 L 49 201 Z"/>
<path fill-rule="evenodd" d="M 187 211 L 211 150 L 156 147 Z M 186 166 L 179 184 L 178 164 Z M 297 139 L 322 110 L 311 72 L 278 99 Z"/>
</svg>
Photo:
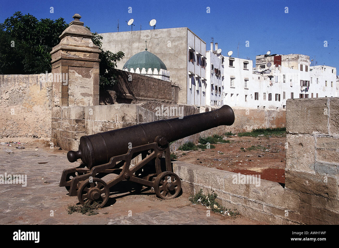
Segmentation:
<svg viewBox="0 0 339 248">
<path fill-rule="evenodd" d="M 20 150 L 15 146 L 6 147 L 14 153 L 5 153 L 5 146 L 0 146 L 0 174 L 26 174 L 27 186 L 0 184 L 0 224 L 265 224 L 242 216 L 206 216 L 206 208 L 192 205 L 185 192 L 176 199 L 161 200 L 151 189 L 129 192 L 129 182 L 111 188 L 108 204 L 96 210 L 98 214 L 67 214 L 67 206 L 78 199 L 69 197 L 59 181 L 62 170 L 80 162 L 68 162 L 66 151 L 41 141 L 26 143 Z"/>
</svg>

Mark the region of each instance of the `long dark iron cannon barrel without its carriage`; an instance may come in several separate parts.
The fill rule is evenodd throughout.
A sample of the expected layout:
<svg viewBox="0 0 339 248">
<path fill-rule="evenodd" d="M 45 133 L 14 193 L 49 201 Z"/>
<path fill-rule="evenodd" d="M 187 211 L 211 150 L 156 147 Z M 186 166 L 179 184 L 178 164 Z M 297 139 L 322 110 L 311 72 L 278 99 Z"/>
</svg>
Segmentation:
<svg viewBox="0 0 339 248">
<path fill-rule="evenodd" d="M 182 119 L 148 122 L 82 136 L 79 150 L 68 151 L 67 159 L 69 162 L 81 159 L 91 169 L 93 166 L 108 163 L 112 157 L 127 153 L 128 148 L 131 147 L 153 142 L 165 145 L 167 142 L 176 141 L 213 127 L 231 126 L 233 123 L 234 112 L 230 106 L 224 105 L 217 110 L 184 116 Z M 165 139 L 156 141 L 158 136 Z"/>
</svg>

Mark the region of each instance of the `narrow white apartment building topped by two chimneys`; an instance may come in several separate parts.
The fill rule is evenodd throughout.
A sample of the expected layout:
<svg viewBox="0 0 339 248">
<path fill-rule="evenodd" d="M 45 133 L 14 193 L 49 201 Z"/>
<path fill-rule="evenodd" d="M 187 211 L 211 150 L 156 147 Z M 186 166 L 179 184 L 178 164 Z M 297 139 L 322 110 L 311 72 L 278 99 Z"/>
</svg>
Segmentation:
<svg viewBox="0 0 339 248">
<path fill-rule="evenodd" d="M 224 56 L 217 53 L 218 43 L 215 43 L 213 50 L 213 42 L 211 49 L 206 51 L 206 105 L 222 106 L 224 92 Z"/>
</svg>

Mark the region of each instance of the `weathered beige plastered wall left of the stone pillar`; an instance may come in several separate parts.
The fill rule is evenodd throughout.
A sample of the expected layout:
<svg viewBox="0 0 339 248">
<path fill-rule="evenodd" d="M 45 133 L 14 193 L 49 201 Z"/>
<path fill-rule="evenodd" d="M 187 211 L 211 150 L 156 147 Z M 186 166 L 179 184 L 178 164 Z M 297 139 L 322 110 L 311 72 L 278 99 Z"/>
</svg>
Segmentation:
<svg viewBox="0 0 339 248">
<path fill-rule="evenodd" d="M 52 81 L 45 74 L 0 75 L 0 138 L 49 140 Z"/>
</svg>

